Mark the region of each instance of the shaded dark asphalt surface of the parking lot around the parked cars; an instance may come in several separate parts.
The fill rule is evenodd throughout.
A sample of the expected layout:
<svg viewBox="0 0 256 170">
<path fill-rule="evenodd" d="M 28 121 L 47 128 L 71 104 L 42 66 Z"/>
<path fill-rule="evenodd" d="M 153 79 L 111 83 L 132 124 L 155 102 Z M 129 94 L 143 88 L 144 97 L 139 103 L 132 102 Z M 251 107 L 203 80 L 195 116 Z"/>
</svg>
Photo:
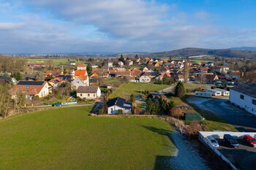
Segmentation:
<svg viewBox="0 0 256 170">
<path fill-rule="evenodd" d="M 242 139 L 238 139 L 239 147 L 230 147 L 224 139 L 217 139 L 219 147 L 217 149 L 234 166 L 243 170 L 256 169 L 256 147 L 251 147 L 246 144 Z"/>
</svg>

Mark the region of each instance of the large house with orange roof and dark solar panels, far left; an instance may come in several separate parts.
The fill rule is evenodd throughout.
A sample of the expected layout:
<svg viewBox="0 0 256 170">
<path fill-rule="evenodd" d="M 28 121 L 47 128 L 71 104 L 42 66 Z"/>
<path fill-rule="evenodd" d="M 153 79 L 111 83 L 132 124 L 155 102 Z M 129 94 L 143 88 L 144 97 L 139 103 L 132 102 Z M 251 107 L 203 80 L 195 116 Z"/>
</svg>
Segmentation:
<svg viewBox="0 0 256 170">
<path fill-rule="evenodd" d="M 10 93 L 12 98 L 15 98 L 19 90 L 25 93 L 27 98 L 32 99 L 34 96 L 42 98 L 49 95 L 48 86 L 46 81 L 19 81 L 10 90 Z"/>
</svg>

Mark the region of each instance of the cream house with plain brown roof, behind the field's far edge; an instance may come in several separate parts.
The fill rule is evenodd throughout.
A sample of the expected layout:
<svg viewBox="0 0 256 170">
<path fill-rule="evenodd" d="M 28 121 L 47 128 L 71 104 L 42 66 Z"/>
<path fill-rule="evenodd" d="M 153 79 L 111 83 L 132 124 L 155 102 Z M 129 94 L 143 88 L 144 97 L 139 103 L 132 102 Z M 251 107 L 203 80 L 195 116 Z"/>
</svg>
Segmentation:
<svg viewBox="0 0 256 170">
<path fill-rule="evenodd" d="M 97 100 L 101 96 L 101 90 L 96 86 L 79 86 L 77 96 L 79 98 Z"/>
</svg>

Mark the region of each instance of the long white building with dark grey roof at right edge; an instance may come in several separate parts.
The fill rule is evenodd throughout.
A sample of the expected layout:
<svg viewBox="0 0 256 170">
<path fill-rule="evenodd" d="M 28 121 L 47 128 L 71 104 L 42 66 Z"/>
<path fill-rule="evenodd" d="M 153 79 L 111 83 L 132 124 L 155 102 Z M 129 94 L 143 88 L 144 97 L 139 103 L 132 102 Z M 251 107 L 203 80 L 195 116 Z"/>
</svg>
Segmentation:
<svg viewBox="0 0 256 170">
<path fill-rule="evenodd" d="M 256 85 L 244 83 L 230 88 L 230 103 L 256 115 Z"/>
</svg>

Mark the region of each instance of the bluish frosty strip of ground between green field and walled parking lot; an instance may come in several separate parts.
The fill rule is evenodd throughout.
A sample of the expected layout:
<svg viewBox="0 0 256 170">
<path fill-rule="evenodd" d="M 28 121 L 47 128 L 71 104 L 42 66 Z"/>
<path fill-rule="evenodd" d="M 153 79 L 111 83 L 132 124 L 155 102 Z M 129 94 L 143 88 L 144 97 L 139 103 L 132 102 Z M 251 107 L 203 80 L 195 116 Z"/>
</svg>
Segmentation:
<svg viewBox="0 0 256 170">
<path fill-rule="evenodd" d="M 195 150 L 189 147 L 187 141 L 178 133 L 172 133 L 171 137 L 177 151 L 176 156 L 170 160 L 172 169 L 175 170 L 207 170 L 209 169 L 202 158 L 200 158 Z"/>
</svg>

